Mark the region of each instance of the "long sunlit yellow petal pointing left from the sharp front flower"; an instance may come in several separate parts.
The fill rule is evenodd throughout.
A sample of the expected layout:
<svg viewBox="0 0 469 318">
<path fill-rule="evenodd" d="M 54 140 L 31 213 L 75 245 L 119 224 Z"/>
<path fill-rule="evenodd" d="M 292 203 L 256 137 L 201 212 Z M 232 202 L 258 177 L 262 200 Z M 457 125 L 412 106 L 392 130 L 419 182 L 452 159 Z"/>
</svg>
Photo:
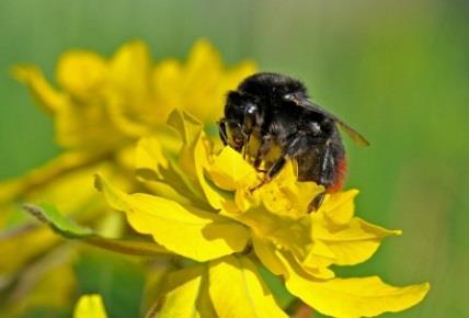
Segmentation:
<svg viewBox="0 0 469 318">
<path fill-rule="evenodd" d="M 100 178 L 96 183 L 108 204 L 126 213 L 135 230 L 181 255 L 207 261 L 242 251 L 248 242 L 249 231 L 227 217 L 149 194 L 128 195 Z"/>
</svg>

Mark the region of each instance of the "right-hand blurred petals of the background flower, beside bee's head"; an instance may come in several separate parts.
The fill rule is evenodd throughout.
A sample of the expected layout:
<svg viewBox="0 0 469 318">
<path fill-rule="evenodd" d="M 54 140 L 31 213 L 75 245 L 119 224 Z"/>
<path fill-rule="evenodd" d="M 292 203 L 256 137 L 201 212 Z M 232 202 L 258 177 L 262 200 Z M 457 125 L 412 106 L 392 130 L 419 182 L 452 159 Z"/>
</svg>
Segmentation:
<svg viewBox="0 0 469 318">
<path fill-rule="evenodd" d="M 222 115 L 226 92 L 255 69 L 252 61 L 227 69 L 219 53 L 206 39 L 197 41 L 186 63 L 171 58 L 155 68 L 153 92 L 157 104 L 164 105 L 159 110 L 161 117 L 165 118 L 173 109 L 181 109 L 204 123 L 215 123 Z"/>
</svg>

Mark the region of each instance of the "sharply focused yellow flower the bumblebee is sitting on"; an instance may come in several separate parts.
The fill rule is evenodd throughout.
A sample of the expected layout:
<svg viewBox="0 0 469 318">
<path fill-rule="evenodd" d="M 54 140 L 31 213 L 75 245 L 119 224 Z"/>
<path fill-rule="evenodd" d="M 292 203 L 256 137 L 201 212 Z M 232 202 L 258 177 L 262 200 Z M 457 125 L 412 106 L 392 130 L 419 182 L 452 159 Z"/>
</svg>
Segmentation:
<svg viewBox="0 0 469 318">
<path fill-rule="evenodd" d="M 126 194 L 96 180 L 136 231 L 202 262 L 170 275 L 162 317 L 192 310 L 198 317 L 286 317 L 258 273 L 259 263 L 282 276 L 293 295 L 334 317 L 400 311 L 427 293 L 427 283 L 394 287 L 376 276 L 335 277 L 332 264 L 364 262 L 385 237 L 400 235 L 354 216 L 357 191 L 328 194 L 320 209 L 308 214 L 310 198 L 323 189 L 298 182 L 294 164 L 258 186 L 262 174 L 229 147 L 215 151 L 196 118 L 174 111 L 169 125 L 181 138 L 179 156 L 158 137 L 141 139 L 137 149 L 138 174 L 157 195 Z"/>
</svg>

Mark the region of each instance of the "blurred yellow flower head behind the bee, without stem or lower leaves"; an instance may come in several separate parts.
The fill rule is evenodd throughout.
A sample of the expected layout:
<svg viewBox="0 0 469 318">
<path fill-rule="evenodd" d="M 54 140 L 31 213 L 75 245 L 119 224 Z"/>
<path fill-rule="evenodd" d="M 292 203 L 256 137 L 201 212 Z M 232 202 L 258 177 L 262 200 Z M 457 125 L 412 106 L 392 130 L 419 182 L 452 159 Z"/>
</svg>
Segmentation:
<svg viewBox="0 0 469 318">
<path fill-rule="evenodd" d="M 57 67 L 59 89 L 36 67 L 14 69 L 54 116 L 57 143 L 98 152 L 157 129 L 175 107 L 215 123 L 221 116 L 224 94 L 254 71 L 251 61 L 226 68 L 205 39 L 195 43 L 185 64 L 167 59 L 153 65 L 140 41 L 125 44 L 110 59 L 88 50 L 68 52 Z"/>
</svg>

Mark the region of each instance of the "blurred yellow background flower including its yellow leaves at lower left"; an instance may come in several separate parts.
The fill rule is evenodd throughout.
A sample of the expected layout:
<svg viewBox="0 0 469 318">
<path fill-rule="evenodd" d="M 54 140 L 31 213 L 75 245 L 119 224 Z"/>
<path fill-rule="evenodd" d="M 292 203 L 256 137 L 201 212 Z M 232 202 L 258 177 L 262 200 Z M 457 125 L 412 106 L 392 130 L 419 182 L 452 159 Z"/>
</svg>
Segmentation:
<svg viewBox="0 0 469 318">
<path fill-rule="evenodd" d="M 22 203 L 53 203 L 78 220 L 105 225 L 108 208 L 92 186 L 93 174 L 100 172 L 121 189 L 135 191 L 137 180 L 127 178 L 134 169 L 135 143 L 152 133 L 172 145 L 173 134 L 163 126 L 176 106 L 203 116 L 207 125 L 215 123 L 219 115 L 214 110 L 222 110 L 226 91 L 254 71 L 249 60 L 226 67 L 205 39 L 194 44 L 185 61 L 155 63 L 140 41 L 124 44 L 110 58 L 70 50 L 58 61 L 55 84 L 36 66 L 15 67 L 14 76 L 53 117 L 64 152 L 0 183 L 0 274 L 12 282 L 8 287 L 16 286 L 26 263 L 50 253 L 59 240 L 32 225 Z M 113 235 L 124 226 L 115 227 Z"/>
</svg>

